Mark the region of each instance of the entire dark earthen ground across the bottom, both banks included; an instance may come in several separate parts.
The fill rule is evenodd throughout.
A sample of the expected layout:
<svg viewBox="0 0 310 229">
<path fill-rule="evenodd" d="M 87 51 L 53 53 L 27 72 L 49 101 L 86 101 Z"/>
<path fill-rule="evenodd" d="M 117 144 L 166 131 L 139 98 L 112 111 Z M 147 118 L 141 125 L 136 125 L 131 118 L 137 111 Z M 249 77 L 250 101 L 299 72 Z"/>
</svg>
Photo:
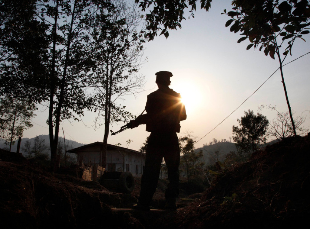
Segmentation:
<svg viewBox="0 0 310 229">
<path fill-rule="evenodd" d="M 297 228 L 310 216 L 310 136 L 284 139 L 248 162 L 220 171 L 212 186 L 176 212 L 116 212 L 137 201 L 94 181 L 53 174 L 13 153 L 0 153 L 1 228 Z M 152 205 L 164 204 L 162 180 Z"/>
</svg>

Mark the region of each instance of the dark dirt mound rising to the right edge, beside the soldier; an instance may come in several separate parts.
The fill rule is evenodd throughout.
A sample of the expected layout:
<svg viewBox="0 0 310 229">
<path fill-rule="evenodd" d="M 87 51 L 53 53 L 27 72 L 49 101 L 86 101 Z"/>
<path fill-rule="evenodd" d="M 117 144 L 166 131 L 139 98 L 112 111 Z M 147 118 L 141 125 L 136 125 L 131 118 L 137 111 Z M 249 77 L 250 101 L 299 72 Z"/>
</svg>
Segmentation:
<svg viewBox="0 0 310 229">
<path fill-rule="evenodd" d="M 291 137 L 223 171 L 162 228 L 297 228 L 310 215 L 310 136 Z M 155 227 L 154 227 L 155 228 Z"/>
</svg>

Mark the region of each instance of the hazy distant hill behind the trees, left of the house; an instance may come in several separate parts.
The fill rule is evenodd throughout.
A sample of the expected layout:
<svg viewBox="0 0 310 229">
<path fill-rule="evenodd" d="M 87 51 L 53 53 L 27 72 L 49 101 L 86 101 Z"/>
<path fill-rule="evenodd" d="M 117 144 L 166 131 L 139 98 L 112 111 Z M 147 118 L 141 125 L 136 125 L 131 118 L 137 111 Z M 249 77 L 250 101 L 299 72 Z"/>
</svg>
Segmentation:
<svg viewBox="0 0 310 229">
<path fill-rule="evenodd" d="M 44 143 L 45 145 L 47 145 L 49 147 L 50 145 L 50 139 L 49 139 L 49 135 L 38 135 L 38 137 L 40 139 L 43 139 L 44 140 Z M 20 153 L 22 153 L 24 155 L 24 152 L 22 150 L 22 148 L 24 147 L 26 141 L 30 141 L 31 145 L 34 144 L 34 138 L 22 138 L 21 139 L 21 142 L 20 142 Z M 11 152 L 16 152 L 16 149 L 17 149 L 17 141 L 15 141 L 15 144 L 12 145 L 11 147 Z M 63 137 L 59 137 L 59 142 L 64 142 L 64 138 Z M 66 139 L 66 148 L 67 150 L 69 149 L 73 149 L 73 148 L 77 148 L 77 147 L 80 147 L 82 145 L 86 145 L 86 144 L 82 144 L 82 143 L 79 143 L 79 142 L 76 142 L 76 141 L 73 141 L 73 140 L 68 140 Z M 0 148 L 1 149 L 7 149 L 9 150 L 10 148 L 10 145 L 5 145 L 5 141 L 3 139 L 0 139 Z M 25 155 L 26 156 L 26 155 Z"/>
</svg>

